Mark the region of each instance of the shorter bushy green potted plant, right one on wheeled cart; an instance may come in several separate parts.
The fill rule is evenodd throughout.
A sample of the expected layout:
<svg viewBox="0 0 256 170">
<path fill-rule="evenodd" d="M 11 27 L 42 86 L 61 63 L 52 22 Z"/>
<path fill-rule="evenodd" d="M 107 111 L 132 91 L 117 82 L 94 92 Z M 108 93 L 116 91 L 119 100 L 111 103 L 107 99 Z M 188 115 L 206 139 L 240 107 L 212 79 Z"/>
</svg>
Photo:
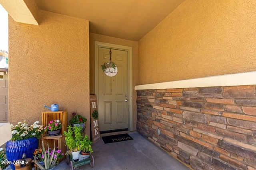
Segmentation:
<svg viewBox="0 0 256 170">
<path fill-rule="evenodd" d="M 85 135 L 85 137 L 80 141 L 80 155 L 79 160 L 87 159 L 90 154 L 93 152 L 92 150 L 92 141 L 88 139 L 88 135 Z"/>
</svg>

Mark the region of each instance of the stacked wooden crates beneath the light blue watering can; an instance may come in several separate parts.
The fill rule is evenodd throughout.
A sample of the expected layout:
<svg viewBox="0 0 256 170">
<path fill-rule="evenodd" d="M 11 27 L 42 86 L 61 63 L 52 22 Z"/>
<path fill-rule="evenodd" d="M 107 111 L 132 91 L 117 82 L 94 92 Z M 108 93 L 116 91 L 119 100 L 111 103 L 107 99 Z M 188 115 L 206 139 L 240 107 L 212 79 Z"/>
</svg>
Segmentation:
<svg viewBox="0 0 256 170">
<path fill-rule="evenodd" d="M 62 124 L 62 129 L 60 135 L 57 136 L 49 136 L 47 132 L 44 132 L 42 140 L 44 142 L 44 147 L 47 148 L 47 143 L 51 149 L 54 147 L 58 147 L 61 149 L 62 153 L 65 154 L 65 137 L 63 135 L 64 131 L 67 131 L 67 111 L 47 111 L 42 112 L 42 125 L 46 127 L 50 121 L 54 121 L 59 119 Z"/>
</svg>

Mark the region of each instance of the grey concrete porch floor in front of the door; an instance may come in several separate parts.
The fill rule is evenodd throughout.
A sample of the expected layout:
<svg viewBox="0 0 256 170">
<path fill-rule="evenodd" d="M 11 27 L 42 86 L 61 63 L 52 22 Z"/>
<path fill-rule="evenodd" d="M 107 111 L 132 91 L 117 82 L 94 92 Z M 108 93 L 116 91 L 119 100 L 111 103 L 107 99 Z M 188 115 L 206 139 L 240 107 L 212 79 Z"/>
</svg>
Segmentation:
<svg viewBox="0 0 256 170">
<path fill-rule="evenodd" d="M 94 167 L 79 166 L 81 170 L 189 170 L 184 164 L 170 156 L 139 133 L 129 133 L 130 141 L 104 144 L 102 138 L 93 144 Z M 66 160 L 56 170 L 69 170 Z"/>
</svg>

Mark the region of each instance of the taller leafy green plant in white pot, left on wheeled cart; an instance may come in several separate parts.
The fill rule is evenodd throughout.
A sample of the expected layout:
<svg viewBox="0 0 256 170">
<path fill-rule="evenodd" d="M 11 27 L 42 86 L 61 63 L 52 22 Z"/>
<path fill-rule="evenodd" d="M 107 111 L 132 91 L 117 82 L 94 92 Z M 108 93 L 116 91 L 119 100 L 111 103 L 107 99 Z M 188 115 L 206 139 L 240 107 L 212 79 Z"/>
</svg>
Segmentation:
<svg viewBox="0 0 256 170">
<path fill-rule="evenodd" d="M 67 155 L 72 154 L 74 161 L 79 159 L 79 151 L 80 151 L 80 141 L 82 141 L 83 136 L 81 134 L 80 127 L 71 127 L 70 125 L 67 127 L 68 131 L 64 131 L 66 145 L 68 146 Z"/>
</svg>

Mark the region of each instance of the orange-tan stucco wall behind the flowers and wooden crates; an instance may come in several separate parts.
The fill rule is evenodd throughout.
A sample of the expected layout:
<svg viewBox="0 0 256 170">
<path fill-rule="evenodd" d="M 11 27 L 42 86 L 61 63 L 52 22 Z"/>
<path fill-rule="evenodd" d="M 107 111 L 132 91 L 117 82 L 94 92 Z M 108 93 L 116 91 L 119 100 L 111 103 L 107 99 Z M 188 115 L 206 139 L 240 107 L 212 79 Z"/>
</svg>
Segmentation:
<svg viewBox="0 0 256 170">
<path fill-rule="evenodd" d="M 40 10 L 40 25 L 9 17 L 9 120 L 42 122 L 44 104 L 89 119 L 88 21 Z M 90 134 L 89 122 L 86 134 Z"/>
</svg>

